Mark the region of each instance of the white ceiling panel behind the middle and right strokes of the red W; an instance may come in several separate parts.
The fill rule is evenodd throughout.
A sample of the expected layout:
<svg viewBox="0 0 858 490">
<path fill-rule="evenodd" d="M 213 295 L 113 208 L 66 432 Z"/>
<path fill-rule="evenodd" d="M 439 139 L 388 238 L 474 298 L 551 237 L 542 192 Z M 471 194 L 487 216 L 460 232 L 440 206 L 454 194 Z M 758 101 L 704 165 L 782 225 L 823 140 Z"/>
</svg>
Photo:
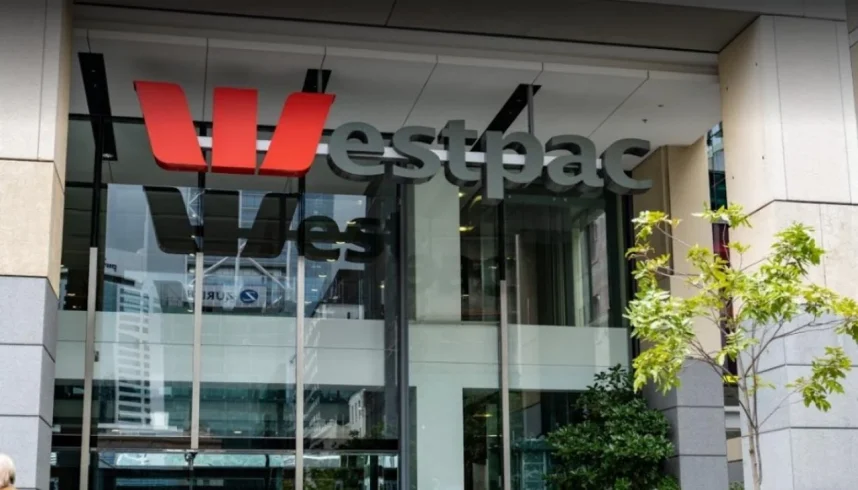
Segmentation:
<svg viewBox="0 0 858 490">
<path fill-rule="evenodd" d="M 215 87 L 253 88 L 259 91 L 258 123 L 276 124 L 286 97 L 301 91 L 307 70 L 320 68 L 324 54 L 321 46 L 212 40 L 206 77 L 205 120 L 212 119 Z"/>
</svg>

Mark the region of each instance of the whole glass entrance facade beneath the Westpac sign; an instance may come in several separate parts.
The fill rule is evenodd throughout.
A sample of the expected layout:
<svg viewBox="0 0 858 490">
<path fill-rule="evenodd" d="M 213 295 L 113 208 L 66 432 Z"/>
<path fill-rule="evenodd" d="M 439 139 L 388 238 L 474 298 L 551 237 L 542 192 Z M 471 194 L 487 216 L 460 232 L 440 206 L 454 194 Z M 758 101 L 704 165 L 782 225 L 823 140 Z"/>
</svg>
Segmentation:
<svg viewBox="0 0 858 490">
<path fill-rule="evenodd" d="M 476 68 L 519 95 L 530 76 Z M 450 93 L 466 118 L 472 92 Z M 57 488 L 545 489 L 547 434 L 628 365 L 608 190 L 537 177 L 485 203 L 443 170 L 355 181 L 324 157 L 303 178 L 167 171 L 142 118 L 83 113 L 68 158 Z"/>
</svg>

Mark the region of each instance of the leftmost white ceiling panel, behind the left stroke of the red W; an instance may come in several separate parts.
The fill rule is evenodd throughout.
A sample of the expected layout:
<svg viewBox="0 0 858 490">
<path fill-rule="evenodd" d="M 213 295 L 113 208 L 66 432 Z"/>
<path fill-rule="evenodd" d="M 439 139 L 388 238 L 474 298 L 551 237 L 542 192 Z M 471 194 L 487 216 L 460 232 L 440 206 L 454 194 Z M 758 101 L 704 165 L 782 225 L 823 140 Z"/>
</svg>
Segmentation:
<svg viewBox="0 0 858 490">
<path fill-rule="evenodd" d="M 205 39 L 90 31 L 89 46 L 104 55 L 113 115 L 140 117 L 134 81 L 149 80 L 181 85 L 192 117 L 202 118 Z"/>
</svg>

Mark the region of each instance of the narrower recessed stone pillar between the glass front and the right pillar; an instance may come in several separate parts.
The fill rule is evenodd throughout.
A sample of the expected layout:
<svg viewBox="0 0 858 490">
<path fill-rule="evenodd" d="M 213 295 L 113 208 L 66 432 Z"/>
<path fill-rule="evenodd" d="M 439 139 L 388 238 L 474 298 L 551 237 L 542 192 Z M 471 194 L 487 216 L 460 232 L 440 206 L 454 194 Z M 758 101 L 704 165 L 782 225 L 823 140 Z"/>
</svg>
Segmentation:
<svg viewBox="0 0 858 490">
<path fill-rule="evenodd" d="M 685 261 L 685 244 L 711 244 L 712 228 L 695 218 L 709 202 L 709 164 L 705 138 L 689 147 L 662 147 L 635 170 L 637 178 L 653 181 L 653 188 L 635 196 L 635 214 L 662 210 L 682 220 L 674 230 L 674 239 L 660 237 L 657 253 L 673 254 L 678 273 L 691 272 Z M 684 296 L 691 291 L 681 277 L 663 283 L 671 294 Z M 700 321 L 697 337 L 708 350 L 720 348 L 720 331 Z M 682 488 L 722 490 L 727 488 L 727 445 L 724 423 L 724 389 L 721 379 L 707 365 L 689 359 L 681 374 L 682 388 L 661 395 L 652 387 L 646 392 L 650 406 L 664 413 L 673 428 L 676 455 L 668 468 Z"/>
</svg>

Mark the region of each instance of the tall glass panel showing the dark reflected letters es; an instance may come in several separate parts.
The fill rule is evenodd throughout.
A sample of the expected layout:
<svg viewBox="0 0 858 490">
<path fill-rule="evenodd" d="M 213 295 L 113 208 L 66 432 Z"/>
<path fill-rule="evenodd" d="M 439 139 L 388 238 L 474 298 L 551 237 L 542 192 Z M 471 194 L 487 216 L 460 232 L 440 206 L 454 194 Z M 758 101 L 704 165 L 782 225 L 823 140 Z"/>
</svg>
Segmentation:
<svg viewBox="0 0 858 490">
<path fill-rule="evenodd" d="M 328 176 L 308 177 L 301 224 L 305 481 L 383 488 L 355 485 L 385 474 L 396 480 L 388 463 L 399 420 L 397 187 L 342 181 L 318 167 Z M 355 450 L 379 456 L 353 457 Z"/>
</svg>

